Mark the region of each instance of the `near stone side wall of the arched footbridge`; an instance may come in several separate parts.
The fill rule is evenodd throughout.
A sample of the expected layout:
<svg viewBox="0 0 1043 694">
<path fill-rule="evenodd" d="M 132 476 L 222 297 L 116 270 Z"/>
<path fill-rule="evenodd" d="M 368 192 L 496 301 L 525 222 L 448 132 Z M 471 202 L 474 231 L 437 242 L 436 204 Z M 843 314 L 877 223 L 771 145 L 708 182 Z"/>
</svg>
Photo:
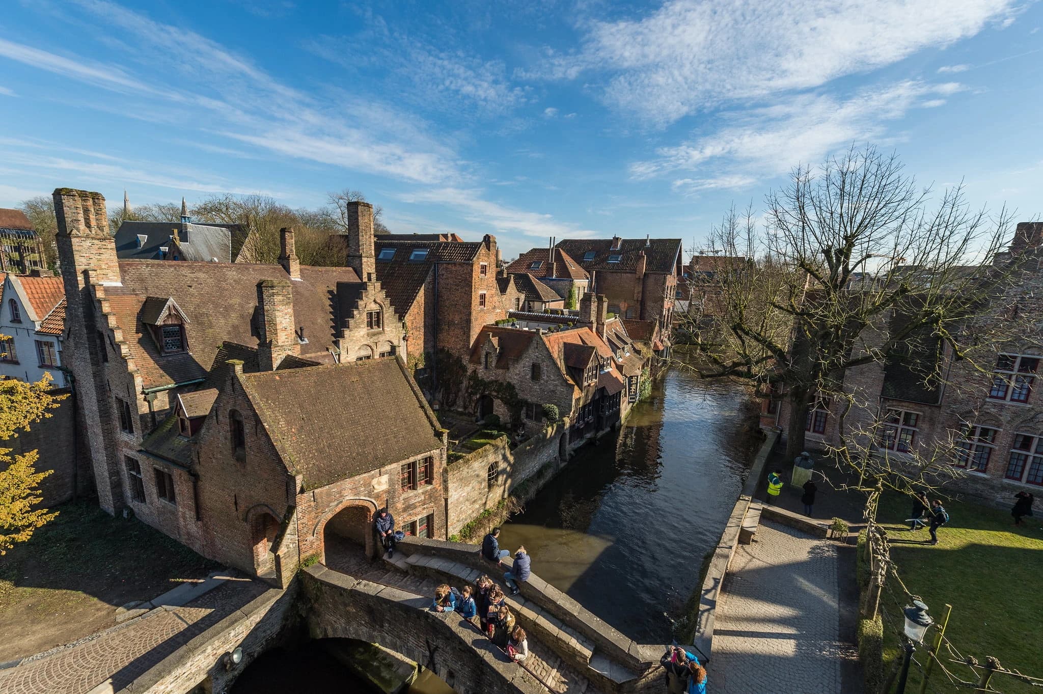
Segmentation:
<svg viewBox="0 0 1043 694">
<path fill-rule="evenodd" d="M 313 639 L 345 638 L 379 643 L 416 661 L 458 694 L 542 694 L 524 668 L 508 663 L 456 613 L 426 608 L 394 588 L 359 580 L 323 566 L 300 573 Z"/>
</svg>

